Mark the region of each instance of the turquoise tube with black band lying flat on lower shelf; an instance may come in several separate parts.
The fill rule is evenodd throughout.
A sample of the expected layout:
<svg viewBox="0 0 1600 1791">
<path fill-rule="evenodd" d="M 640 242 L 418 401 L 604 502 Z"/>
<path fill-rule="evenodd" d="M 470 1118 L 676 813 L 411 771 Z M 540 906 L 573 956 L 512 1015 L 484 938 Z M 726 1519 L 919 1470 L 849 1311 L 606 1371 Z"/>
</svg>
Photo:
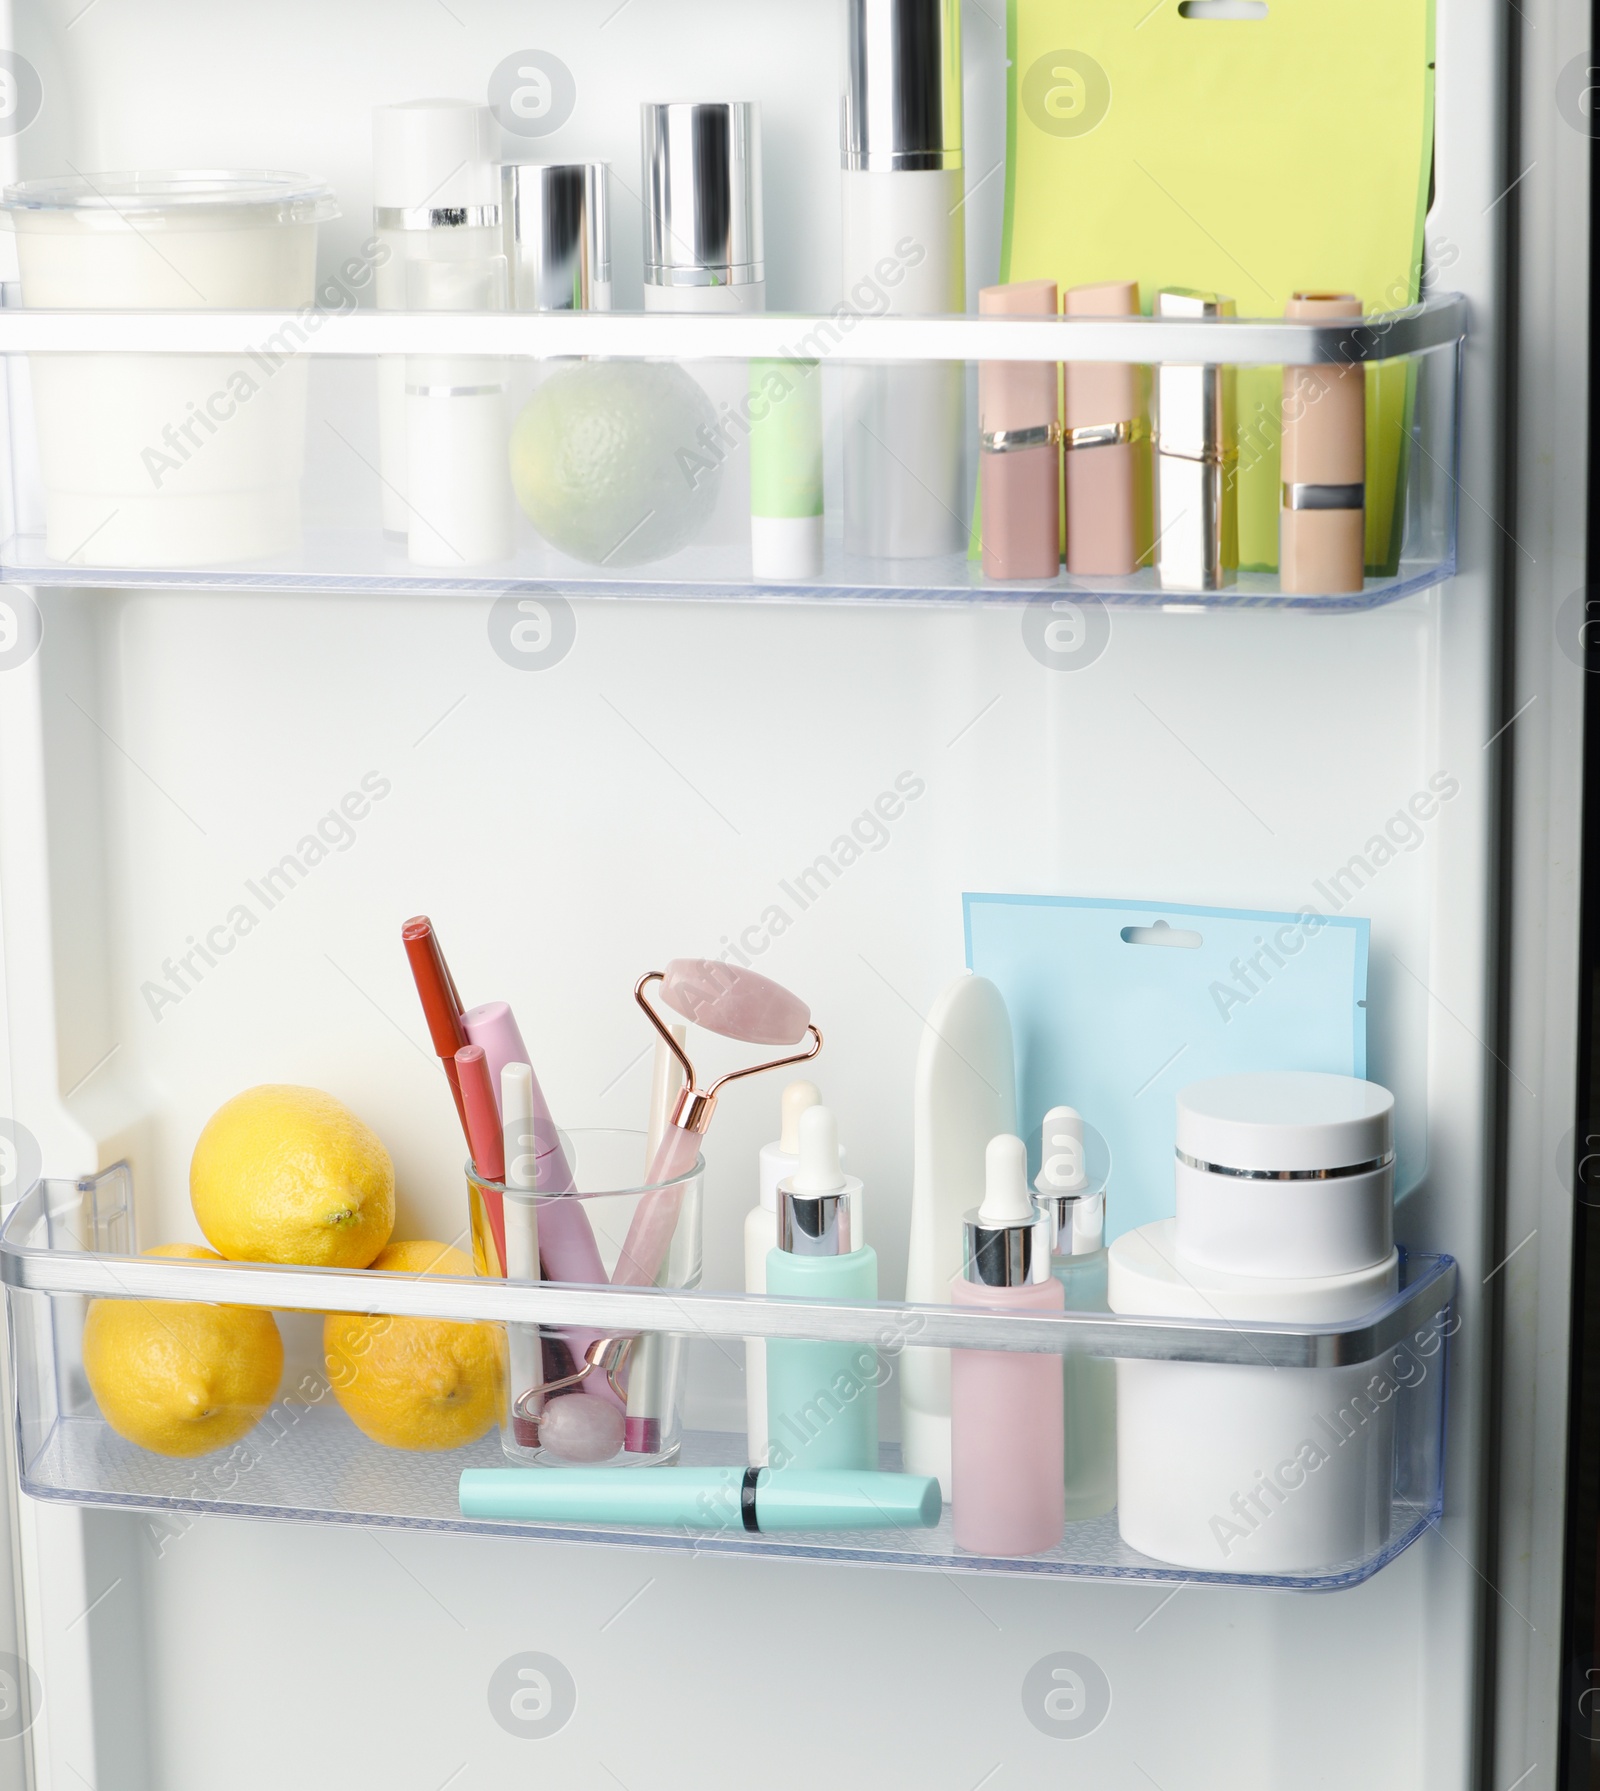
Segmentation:
<svg viewBox="0 0 1600 1791">
<path fill-rule="evenodd" d="M 690 1530 L 932 1530 L 939 1481 L 878 1469 L 469 1467 L 460 1515 Z"/>
</svg>

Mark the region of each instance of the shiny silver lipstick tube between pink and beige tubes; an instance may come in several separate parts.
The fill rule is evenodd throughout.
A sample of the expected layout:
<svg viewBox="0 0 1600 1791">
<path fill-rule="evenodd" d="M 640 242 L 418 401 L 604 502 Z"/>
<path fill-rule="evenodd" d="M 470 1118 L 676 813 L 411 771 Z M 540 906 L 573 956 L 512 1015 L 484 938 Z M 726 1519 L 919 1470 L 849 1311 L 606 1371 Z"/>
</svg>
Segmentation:
<svg viewBox="0 0 1600 1791">
<path fill-rule="evenodd" d="M 1233 317 L 1220 292 L 1163 287 L 1157 317 Z M 1234 371 L 1156 369 L 1156 577 L 1163 591 L 1222 591 L 1238 575 Z"/>
</svg>

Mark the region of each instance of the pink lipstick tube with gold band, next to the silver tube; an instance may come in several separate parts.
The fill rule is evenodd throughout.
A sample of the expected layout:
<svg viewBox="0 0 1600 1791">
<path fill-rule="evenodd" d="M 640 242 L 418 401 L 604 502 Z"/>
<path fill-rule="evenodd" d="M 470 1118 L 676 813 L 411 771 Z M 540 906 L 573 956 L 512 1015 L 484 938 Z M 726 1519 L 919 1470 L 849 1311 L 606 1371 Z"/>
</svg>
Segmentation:
<svg viewBox="0 0 1600 1791">
<path fill-rule="evenodd" d="M 1070 287 L 1061 308 L 1068 317 L 1138 317 L 1140 285 Z M 1140 369 L 1125 362 L 1062 369 L 1066 570 L 1075 578 L 1125 578 L 1140 564 L 1140 460 L 1150 433 L 1140 383 Z"/>
</svg>

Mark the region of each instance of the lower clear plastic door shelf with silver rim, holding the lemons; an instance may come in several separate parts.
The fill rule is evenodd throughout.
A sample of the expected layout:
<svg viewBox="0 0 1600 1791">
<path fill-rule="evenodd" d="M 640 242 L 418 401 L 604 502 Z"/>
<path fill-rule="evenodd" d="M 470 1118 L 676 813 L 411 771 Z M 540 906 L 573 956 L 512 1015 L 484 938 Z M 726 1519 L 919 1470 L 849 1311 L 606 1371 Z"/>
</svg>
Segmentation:
<svg viewBox="0 0 1600 1791">
<path fill-rule="evenodd" d="M 1444 1386 L 1455 1329 L 1455 1263 L 1448 1255 L 1410 1255 L 1399 1291 L 1360 1322 L 1260 1325 L 1012 1316 L 898 1304 L 824 1306 L 699 1291 L 172 1261 L 138 1257 L 133 1248 L 125 1166 L 77 1182 L 41 1182 L 11 1209 L 0 1229 L 22 1485 L 32 1497 L 168 1513 L 460 1530 L 944 1572 L 1184 1580 L 1303 1590 L 1331 1590 L 1371 1578 L 1437 1521 L 1442 1504 Z M 1116 1358 L 1118 1372 L 1129 1367 L 1150 1372 L 1159 1365 L 1165 1375 L 1211 1377 L 1174 1383 L 1179 1397 L 1193 1388 L 1211 1401 L 1218 1375 L 1229 1377 L 1222 1404 L 1233 1401 L 1236 1388 L 1260 1388 L 1269 1401 L 1294 1392 L 1295 1411 L 1283 1435 L 1290 1460 L 1299 1449 L 1301 1474 L 1295 1483 L 1285 1472 L 1288 1463 L 1245 1461 L 1243 1495 L 1254 1494 L 1249 1478 L 1254 1469 L 1279 1476 L 1290 1490 L 1277 1494 L 1277 1504 L 1260 1497 L 1251 1504 L 1242 1497 L 1226 1517 L 1215 1519 L 1224 1524 L 1215 1565 L 1181 1565 L 1138 1553 L 1122 1540 L 1114 1512 L 1070 1522 L 1059 1547 L 1027 1558 L 959 1549 L 948 1510 L 937 1530 L 772 1535 L 754 1535 L 736 1524 L 652 1530 L 468 1521 L 457 1506 L 460 1470 L 505 1465 L 493 1431 L 477 1444 L 437 1454 L 385 1449 L 355 1427 L 319 1375 L 285 1374 L 278 1397 L 254 1429 L 211 1454 L 170 1458 L 124 1440 L 100 1418 L 84 1372 L 82 1333 L 91 1300 L 204 1300 L 278 1313 L 351 1311 L 496 1327 L 541 1324 L 546 1333 L 588 1324 L 607 1334 L 636 1329 L 715 1340 L 831 1340 L 878 1354 L 887 1368 L 885 1402 L 896 1397 L 892 1358 L 903 1347 L 1082 1352 Z M 688 1431 L 679 1461 L 744 1467 L 744 1431 Z M 1306 1472 L 1313 1447 L 1320 1460 Z M 1267 1535 L 1277 1506 L 1290 1508 L 1285 1499 L 1295 1497 L 1295 1485 L 1308 1485 L 1319 1472 L 1335 1478 L 1342 1472 L 1338 1454 L 1346 1447 L 1365 1451 L 1358 1478 L 1369 1488 L 1367 1510 L 1358 1515 L 1367 1546 L 1358 1556 L 1272 1571 L 1251 1571 L 1227 1558 L 1231 1544 L 1226 1538 L 1234 1531 L 1245 1537 L 1247 1524 L 1256 1528 L 1252 1512 L 1261 1513 L 1258 1528 Z M 898 1467 L 898 1451 L 885 1445 L 882 1465 Z M 1183 1487 L 1186 1467 L 1174 1460 L 1163 1472 Z M 615 1472 L 627 1474 L 627 1469 Z M 1265 1474 L 1256 1474 L 1256 1485 Z M 1331 1478 L 1324 1481 L 1331 1483 Z M 183 1528 L 181 1517 L 170 1522 L 174 1530 Z"/>
</svg>

